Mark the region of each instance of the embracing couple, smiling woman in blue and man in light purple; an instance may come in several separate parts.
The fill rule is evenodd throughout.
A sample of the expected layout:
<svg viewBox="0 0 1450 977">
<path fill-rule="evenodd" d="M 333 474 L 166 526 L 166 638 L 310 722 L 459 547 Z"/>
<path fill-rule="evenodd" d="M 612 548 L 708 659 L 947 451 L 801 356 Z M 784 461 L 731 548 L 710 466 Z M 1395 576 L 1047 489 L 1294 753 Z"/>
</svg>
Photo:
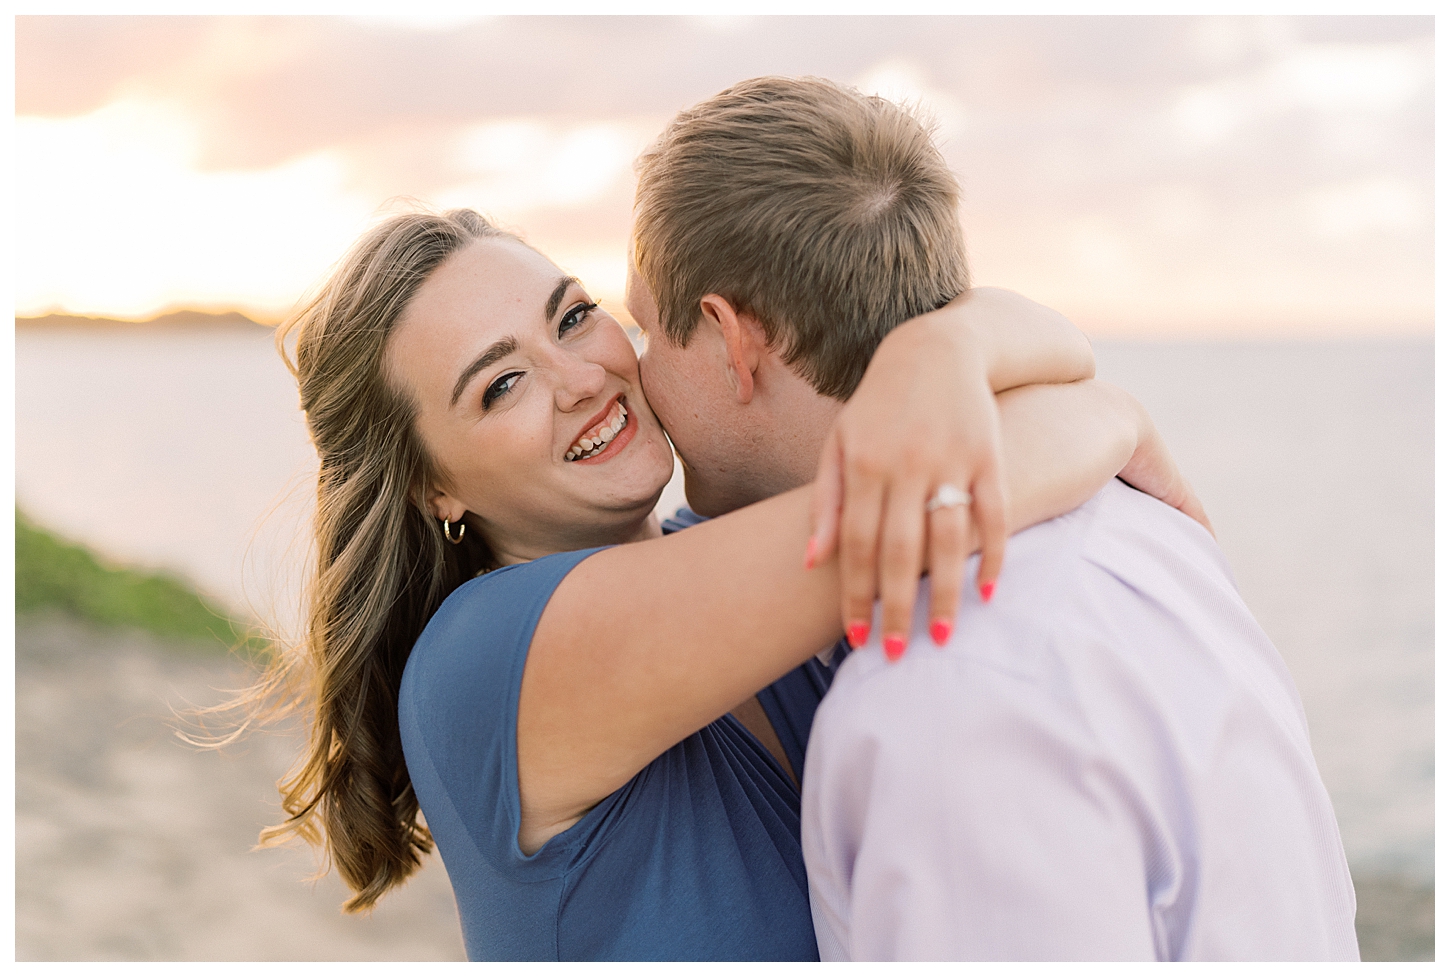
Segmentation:
<svg viewBox="0 0 1450 977">
<path fill-rule="evenodd" d="M 267 836 L 349 909 L 436 845 L 474 960 L 1357 958 L 1283 662 L 1085 338 L 969 290 L 919 122 L 758 78 L 638 175 L 638 358 L 467 210 L 291 319 L 318 564 L 260 689 L 315 712 Z"/>
</svg>

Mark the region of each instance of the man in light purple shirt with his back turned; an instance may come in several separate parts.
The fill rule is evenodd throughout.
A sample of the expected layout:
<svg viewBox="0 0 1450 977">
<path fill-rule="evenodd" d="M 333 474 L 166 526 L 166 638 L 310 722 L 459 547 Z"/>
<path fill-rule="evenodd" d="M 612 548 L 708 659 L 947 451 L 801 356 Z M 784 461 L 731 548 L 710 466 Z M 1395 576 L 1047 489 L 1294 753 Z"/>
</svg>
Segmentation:
<svg viewBox="0 0 1450 977">
<path fill-rule="evenodd" d="M 882 336 L 966 286 L 929 136 L 831 83 L 682 113 L 635 210 L 641 377 L 706 515 L 811 481 Z M 822 960 L 1357 958 L 1298 694 L 1204 528 L 1114 483 L 961 606 L 896 664 L 873 628 L 816 713 Z"/>
</svg>

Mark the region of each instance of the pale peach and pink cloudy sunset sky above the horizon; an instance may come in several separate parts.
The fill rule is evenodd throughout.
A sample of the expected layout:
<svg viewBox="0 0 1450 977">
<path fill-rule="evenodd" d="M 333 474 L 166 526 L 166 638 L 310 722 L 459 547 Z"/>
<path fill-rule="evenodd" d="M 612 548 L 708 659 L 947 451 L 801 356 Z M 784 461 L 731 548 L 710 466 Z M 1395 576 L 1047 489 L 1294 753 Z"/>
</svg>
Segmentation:
<svg viewBox="0 0 1450 977">
<path fill-rule="evenodd" d="M 929 116 L 973 280 L 1089 335 L 1431 335 L 1431 17 L 16 19 L 16 312 L 277 320 L 471 206 L 619 310 L 634 174 L 761 74 Z"/>
</svg>

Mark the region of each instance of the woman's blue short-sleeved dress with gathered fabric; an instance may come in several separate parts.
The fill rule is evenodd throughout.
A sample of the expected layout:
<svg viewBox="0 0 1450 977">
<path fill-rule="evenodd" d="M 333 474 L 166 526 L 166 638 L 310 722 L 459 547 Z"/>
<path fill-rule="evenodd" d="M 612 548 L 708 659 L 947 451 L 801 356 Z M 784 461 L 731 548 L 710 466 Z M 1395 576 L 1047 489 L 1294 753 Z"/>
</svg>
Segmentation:
<svg viewBox="0 0 1450 977">
<path fill-rule="evenodd" d="M 458 587 L 403 673 L 403 752 L 468 958 L 816 960 L 800 791 L 731 715 L 667 749 L 535 854 L 519 849 L 523 661 L 554 589 L 594 552 L 554 554 Z M 831 675 L 812 658 L 760 693 L 796 771 Z"/>
</svg>

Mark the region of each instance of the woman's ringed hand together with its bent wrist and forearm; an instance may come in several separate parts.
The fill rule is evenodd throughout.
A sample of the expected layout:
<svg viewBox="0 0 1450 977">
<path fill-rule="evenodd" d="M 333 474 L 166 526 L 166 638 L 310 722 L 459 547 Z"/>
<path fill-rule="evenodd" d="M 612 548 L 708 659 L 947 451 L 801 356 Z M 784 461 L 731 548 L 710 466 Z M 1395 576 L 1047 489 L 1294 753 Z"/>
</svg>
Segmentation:
<svg viewBox="0 0 1450 977">
<path fill-rule="evenodd" d="M 992 597 L 1006 545 L 993 393 L 1092 373 L 1092 348 L 1072 323 L 1000 288 L 969 291 L 882 341 L 826 438 L 806 552 L 809 567 L 840 545 L 841 615 L 853 647 L 866 642 L 880 596 L 886 654 L 905 649 L 924 567 L 931 633 L 947 641 L 970 552 L 969 515 L 982 545 L 977 589 Z M 928 513 L 941 486 L 970 493 L 970 513 L 966 506 Z"/>
</svg>

